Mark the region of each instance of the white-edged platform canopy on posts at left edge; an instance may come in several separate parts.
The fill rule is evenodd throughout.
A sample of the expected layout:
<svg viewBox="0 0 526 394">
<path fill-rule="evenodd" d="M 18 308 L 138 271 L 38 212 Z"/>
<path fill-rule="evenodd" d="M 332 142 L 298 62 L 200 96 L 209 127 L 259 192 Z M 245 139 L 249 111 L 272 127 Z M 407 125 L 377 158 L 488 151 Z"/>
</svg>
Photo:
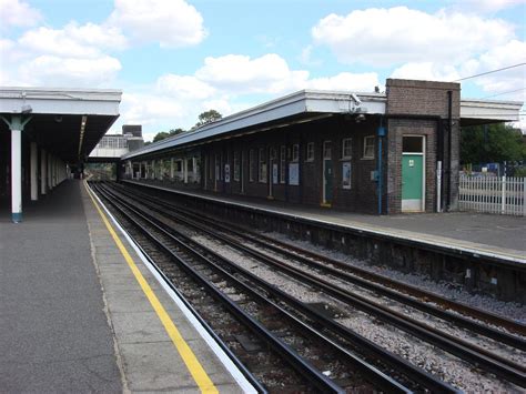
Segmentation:
<svg viewBox="0 0 526 394">
<path fill-rule="evenodd" d="M 29 120 L 23 133 L 64 162 L 83 161 L 119 118 L 122 92 L 108 89 L 0 87 L 0 117 Z M 0 133 L 10 131 L 0 120 Z"/>
</svg>

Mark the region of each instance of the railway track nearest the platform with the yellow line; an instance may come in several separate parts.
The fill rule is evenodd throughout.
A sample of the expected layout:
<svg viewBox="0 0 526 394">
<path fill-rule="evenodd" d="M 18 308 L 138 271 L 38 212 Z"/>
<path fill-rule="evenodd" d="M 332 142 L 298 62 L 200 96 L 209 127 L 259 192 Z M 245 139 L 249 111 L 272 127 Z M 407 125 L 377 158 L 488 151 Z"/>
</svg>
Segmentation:
<svg viewBox="0 0 526 394">
<path fill-rule="evenodd" d="M 175 260 L 178 265 L 183 266 L 186 274 L 191 273 L 194 281 L 199 283 L 199 286 L 193 285 L 190 287 L 189 293 L 191 297 L 194 297 L 192 293 L 194 293 L 196 289 L 210 286 L 211 290 L 209 290 L 209 292 L 214 293 L 213 297 L 222 303 L 226 302 L 230 313 L 234 311 L 233 319 L 235 321 L 244 323 L 250 321 L 251 324 L 261 325 L 256 331 L 271 332 L 267 334 L 269 336 L 265 337 L 265 341 L 269 341 L 269 337 L 272 337 L 271 334 L 274 333 L 275 337 L 273 341 L 277 341 L 277 343 L 285 342 L 286 346 L 284 348 L 289 350 L 285 351 L 275 343 L 272 345 L 265 344 L 265 346 L 261 346 L 261 348 L 270 346 L 274 348 L 274 353 L 277 352 L 281 356 L 283 356 L 283 353 L 299 355 L 300 361 L 295 358 L 293 362 L 287 360 L 287 363 L 293 364 L 292 368 L 296 374 L 302 371 L 302 373 L 305 373 L 305 365 L 310 366 L 306 368 L 308 382 L 294 383 L 294 385 L 292 385 L 295 387 L 293 391 L 308 392 L 311 387 L 316 387 L 323 392 L 357 390 L 380 390 L 385 392 L 456 391 L 448 384 L 437 380 L 423 370 L 414 367 L 401 357 L 385 352 L 366 340 L 362 339 L 361 343 L 354 343 L 354 347 L 361 347 L 361 353 L 370 354 L 368 357 L 371 360 L 374 360 L 384 371 L 395 374 L 396 378 L 387 376 L 387 373 L 381 372 L 377 366 L 371 365 L 367 361 L 362 360 L 351 352 L 348 350 L 351 346 L 342 345 L 342 337 L 350 344 L 355 342 L 357 337 L 354 333 L 348 333 L 348 330 L 341 327 L 337 335 L 335 335 L 334 332 L 337 331 L 335 329 L 337 324 L 332 322 L 333 327 L 331 327 L 330 319 L 324 317 L 308 307 L 308 305 L 294 300 L 273 285 L 257 279 L 246 270 L 218 255 L 212 250 L 200 246 L 190 238 L 174 231 L 166 225 L 166 223 L 149 216 L 145 212 L 141 212 L 133 206 L 133 204 L 125 203 L 122 195 L 111 194 L 111 192 L 103 191 L 100 186 L 94 186 L 94 189 L 99 195 L 113 205 L 113 209 L 118 212 L 117 214 L 121 218 L 120 220 L 128 223 L 127 228 L 133 225 L 135 231 L 139 231 L 139 229 L 143 232 L 145 231 L 142 236 L 155 243 L 153 246 L 144 247 L 146 251 L 150 251 L 150 253 L 155 254 L 155 257 L 159 257 L 156 254 L 159 254 L 160 250 L 163 250 L 164 253 L 171 254 L 171 259 Z M 173 246 L 174 243 L 176 243 L 178 246 Z M 174 247 L 176 250 L 174 250 Z M 173 266 L 173 263 L 168 264 L 168 266 L 164 267 L 165 272 L 172 272 Z M 184 283 L 185 281 L 178 282 Z M 235 289 L 234 293 L 232 293 L 232 289 Z M 225 296 L 224 293 L 220 295 L 221 290 L 226 291 L 229 295 Z M 233 302 L 232 297 L 239 302 Z M 243 311 L 246 310 L 251 311 L 249 317 L 240 317 L 243 315 Z M 221 315 L 221 313 L 219 315 Z M 256 322 L 254 322 L 254 317 L 251 317 L 254 315 L 257 316 Z M 215 314 L 215 317 L 218 314 Z M 283 324 L 286 324 L 286 326 L 283 326 Z M 315 330 L 314 326 L 320 329 Z M 254 333 L 253 327 L 251 331 Z M 261 336 L 261 332 L 257 336 Z M 328 335 L 327 332 L 332 333 L 332 335 Z M 252 336 L 254 334 L 252 334 Z M 340 337 L 340 342 L 336 341 L 336 336 Z M 232 347 L 239 350 L 239 346 Z M 291 355 L 287 357 L 291 357 Z M 295 363 L 300 363 L 303 367 L 299 367 Z M 279 363 L 276 365 L 279 365 Z M 275 370 L 275 366 L 273 370 Z M 282 373 L 284 370 L 281 366 L 277 371 Z M 313 376 L 315 378 L 313 378 Z M 263 381 L 272 382 L 273 380 L 263 377 Z M 305 390 L 301 390 L 301 387 Z M 282 388 L 283 387 L 276 390 L 275 387 L 271 387 L 270 391 L 282 391 Z"/>
</svg>

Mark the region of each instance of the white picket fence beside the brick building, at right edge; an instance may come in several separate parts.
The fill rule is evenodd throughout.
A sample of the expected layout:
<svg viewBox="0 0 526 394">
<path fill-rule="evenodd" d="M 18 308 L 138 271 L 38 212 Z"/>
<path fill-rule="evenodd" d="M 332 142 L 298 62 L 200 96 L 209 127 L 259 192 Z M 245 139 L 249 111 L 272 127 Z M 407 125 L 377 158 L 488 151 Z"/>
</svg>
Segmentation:
<svg viewBox="0 0 526 394">
<path fill-rule="evenodd" d="M 526 216 L 526 178 L 461 175 L 461 211 Z"/>
</svg>

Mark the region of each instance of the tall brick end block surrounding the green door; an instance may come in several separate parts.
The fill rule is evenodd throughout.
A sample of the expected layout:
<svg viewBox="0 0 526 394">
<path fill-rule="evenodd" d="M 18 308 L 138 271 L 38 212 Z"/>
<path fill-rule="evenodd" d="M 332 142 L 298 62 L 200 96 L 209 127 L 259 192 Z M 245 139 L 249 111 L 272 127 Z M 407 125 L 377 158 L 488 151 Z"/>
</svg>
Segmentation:
<svg viewBox="0 0 526 394">
<path fill-rule="evenodd" d="M 444 147 L 444 191 L 449 193 L 451 209 L 456 209 L 458 198 L 459 112 L 458 83 L 387 79 L 388 118 L 388 213 L 402 211 L 402 140 L 404 134 L 425 135 L 425 211 L 434 212 L 436 204 L 436 160 L 439 130 Z M 452 147 L 448 150 L 448 91 L 452 92 Z M 447 178 L 451 176 L 451 191 Z"/>
</svg>

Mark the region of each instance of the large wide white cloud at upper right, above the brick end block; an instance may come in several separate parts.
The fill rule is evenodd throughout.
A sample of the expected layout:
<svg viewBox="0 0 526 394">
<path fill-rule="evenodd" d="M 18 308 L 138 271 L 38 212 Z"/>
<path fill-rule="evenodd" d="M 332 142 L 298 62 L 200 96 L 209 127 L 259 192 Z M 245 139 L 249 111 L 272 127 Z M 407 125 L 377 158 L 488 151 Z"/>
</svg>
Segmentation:
<svg viewBox="0 0 526 394">
<path fill-rule="evenodd" d="M 387 67 L 423 60 L 458 63 L 509 41 L 514 30 L 498 19 L 395 7 L 330 14 L 312 29 L 312 36 L 342 62 Z"/>
</svg>

